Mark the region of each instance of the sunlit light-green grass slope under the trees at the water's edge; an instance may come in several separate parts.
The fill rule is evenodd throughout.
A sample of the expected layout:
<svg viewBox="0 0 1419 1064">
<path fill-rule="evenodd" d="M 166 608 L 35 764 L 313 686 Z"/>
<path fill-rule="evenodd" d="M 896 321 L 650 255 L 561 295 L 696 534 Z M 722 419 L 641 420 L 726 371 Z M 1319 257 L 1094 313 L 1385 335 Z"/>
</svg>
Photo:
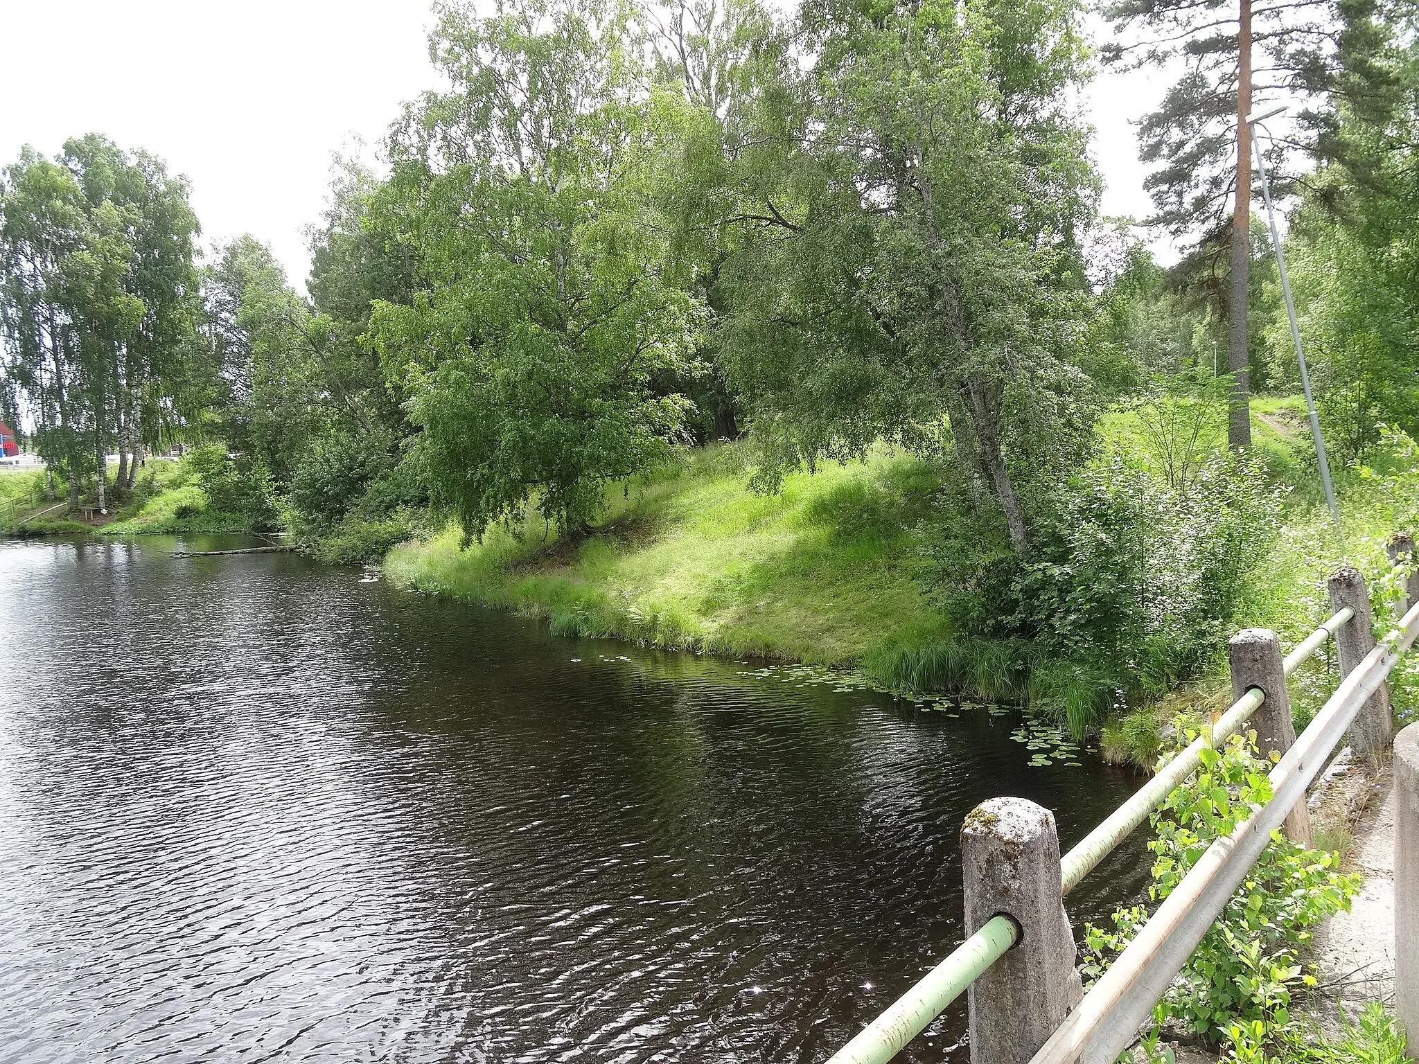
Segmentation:
<svg viewBox="0 0 1419 1064">
<path fill-rule="evenodd" d="M 396 548 L 399 584 L 546 617 L 566 634 L 847 664 L 931 627 L 915 579 L 935 471 L 880 450 L 746 487 L 735 447 L 617 491 L 595 532 L 556 542 L 541 516 L 460 549 L 455 528 Z"/>
</svg>

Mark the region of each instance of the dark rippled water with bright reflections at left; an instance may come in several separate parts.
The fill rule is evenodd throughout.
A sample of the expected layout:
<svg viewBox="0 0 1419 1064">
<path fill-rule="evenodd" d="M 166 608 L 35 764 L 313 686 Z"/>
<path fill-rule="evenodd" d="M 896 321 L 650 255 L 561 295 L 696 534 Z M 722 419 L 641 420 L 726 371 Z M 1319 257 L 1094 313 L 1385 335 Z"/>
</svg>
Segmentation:
<svg viewBox="0 0 1419 1064">
<path fill-rule="evenodd" d="M 172 546 L 0 541 L 4 1061 L 822 1061 L 961 939 L 973 804 L 1069 846 L 1137 785 L 1027 766 L 1012 716 Z M 902 1058 L 964 1061 L 964 1012 Z"/>
</svg>

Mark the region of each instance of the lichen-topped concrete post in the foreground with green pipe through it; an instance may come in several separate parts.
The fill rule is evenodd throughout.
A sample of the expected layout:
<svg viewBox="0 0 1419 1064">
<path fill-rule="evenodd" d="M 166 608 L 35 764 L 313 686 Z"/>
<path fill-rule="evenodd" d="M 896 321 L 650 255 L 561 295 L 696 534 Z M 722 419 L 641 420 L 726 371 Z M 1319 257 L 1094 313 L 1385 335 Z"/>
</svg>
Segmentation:
<svg viewBox="0 0 1419 1064">
<path fill-rule="evenodd" d="M 1033 802 L 983 802 L 961 826 L 966 933 L 1005 914 L 1020 941 L 968 992 L 971 1064 L 1027 1064 L 1084 996 L 1060 892 L 1054 814 Z"/>
</svg>

